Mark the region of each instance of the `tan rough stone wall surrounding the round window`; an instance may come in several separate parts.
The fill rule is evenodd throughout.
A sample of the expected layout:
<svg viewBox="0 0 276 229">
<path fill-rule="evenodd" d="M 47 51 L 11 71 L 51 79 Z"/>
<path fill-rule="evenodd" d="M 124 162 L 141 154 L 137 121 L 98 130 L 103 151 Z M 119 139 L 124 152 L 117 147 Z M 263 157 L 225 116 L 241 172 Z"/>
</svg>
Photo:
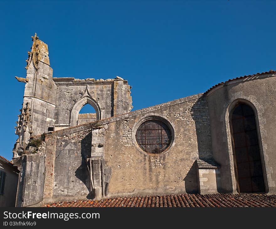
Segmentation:
<svg viewBox="0 0 276 229">
<path fill-rule="evenodd" d="M 106 164 L 112 168 L 109 196 L 198 192 L 194 162 L 212 157 L 207 102 L 196 95 L 174 103 L 109 123 L 106 139 L 112 140 L 104 148 Z M 175 129 L 173 145 L 156 155 L 141 152 L 132 135 L 135 123 L 151 115 L 167 119 Z"/>
</svg>

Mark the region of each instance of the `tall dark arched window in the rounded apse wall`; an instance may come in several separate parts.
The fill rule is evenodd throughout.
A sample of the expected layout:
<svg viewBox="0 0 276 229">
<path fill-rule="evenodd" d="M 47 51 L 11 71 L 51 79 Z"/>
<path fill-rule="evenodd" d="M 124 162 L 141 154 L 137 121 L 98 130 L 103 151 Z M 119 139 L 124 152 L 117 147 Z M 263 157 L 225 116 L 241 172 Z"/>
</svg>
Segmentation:
<svg viewBox="0 0 276 229">
<path fill-rule="evenodd" d="M 237 104 L 230 123 L 238 192 L 265 192 L 254 110 L 247 104 Z"/>
</svg>

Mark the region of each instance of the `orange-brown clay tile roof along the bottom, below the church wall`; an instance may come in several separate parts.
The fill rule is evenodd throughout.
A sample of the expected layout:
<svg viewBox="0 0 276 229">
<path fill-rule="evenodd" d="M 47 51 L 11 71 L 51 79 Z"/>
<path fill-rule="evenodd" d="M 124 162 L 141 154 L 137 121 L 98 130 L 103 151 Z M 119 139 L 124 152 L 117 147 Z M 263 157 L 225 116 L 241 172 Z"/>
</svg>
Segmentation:
<svg viewBox="0 0 276 229">
<path fill-rule="evenodd" d="M 265 194 L 178 194 L 136 196 L 99 201 L 77 200 L 43 207 L 276 207 L 276 195 Z"/>
</svg>

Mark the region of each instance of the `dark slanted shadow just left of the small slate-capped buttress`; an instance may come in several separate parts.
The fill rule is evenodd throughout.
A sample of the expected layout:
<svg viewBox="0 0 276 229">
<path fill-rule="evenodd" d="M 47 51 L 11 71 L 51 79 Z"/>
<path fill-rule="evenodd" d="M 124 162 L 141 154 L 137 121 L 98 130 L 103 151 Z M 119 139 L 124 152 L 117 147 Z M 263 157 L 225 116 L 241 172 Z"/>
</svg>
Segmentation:
<svg viewBox="0 0 276 229">
<path fill-rule="evenodd" d="M 186 177 L 184 178 L 185 191 L 187 193 L 199 193 L 199 182 L 197 173 L 198 169 L 196 166 L 196 162 L 194 162 Z"/>
</svg>

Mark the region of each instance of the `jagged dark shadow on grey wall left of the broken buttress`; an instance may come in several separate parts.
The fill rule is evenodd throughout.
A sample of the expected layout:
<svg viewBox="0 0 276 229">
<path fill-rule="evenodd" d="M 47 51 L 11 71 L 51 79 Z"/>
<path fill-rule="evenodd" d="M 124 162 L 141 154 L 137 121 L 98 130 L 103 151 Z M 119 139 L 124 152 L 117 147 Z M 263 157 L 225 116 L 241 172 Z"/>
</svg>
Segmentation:
<svg viewBox="0 0 276 229">
<path fill-rule="evenodd" d="M 82 164 L 75 171 L 75 176 L 80 179 L 83 184 L 87 187 L 89 194 L 87 195 L 88 199 L 91 198 L 90 193 L 90 175 L 87 168 L 87 158 L 91 157 L 91 141 L 92 141 L 92 132 L 85 136 L 81 141 L 81 155 L 82 155 Z"/>
</svg>

